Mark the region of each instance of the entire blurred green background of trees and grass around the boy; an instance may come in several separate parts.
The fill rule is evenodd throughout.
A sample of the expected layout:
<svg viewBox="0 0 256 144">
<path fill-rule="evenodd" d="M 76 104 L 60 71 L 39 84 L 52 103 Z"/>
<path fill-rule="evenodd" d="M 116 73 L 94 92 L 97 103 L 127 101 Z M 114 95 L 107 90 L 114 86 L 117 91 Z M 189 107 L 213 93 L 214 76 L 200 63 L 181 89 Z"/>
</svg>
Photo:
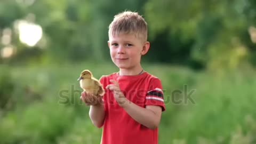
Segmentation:
<svg viewBox="0 0 256 144">
<path fill-rule="evenodd" d="M 108 25 L 124 10 L 148 22 L 159 143 L 256 143 L 254 0 L 1 0 L 0 143 L 100 142 L 77 78 L 118 71 Z"/>
</svg>

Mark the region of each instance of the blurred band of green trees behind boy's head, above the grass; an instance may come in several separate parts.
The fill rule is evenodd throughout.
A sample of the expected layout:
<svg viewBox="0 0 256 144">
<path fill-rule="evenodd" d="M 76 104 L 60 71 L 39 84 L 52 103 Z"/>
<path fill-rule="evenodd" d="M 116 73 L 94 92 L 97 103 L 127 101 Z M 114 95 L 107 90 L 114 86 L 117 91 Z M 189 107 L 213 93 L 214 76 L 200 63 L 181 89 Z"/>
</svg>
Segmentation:
<svg viewBox="0 0 256 144">
<path fill-rule="evenodd" d="M 12 40 L 0 46 L 15 47 L 15 62 L 100 62 L 110 59 L 109 23 L 115 14 L 131 10 L 142 14 L 149 25 L 151 50 L 145 61 L 233 69 L 247 60 L 256 65 L 255 43 L 249 30 L 255 28 L 255 7 L 253 0 L 1 1 L 0 31 L 11 29 Z M 14 28 L 19 19 L 43 29 L 43 37 L 33 49 L 19 42 Z"/>
</svg>

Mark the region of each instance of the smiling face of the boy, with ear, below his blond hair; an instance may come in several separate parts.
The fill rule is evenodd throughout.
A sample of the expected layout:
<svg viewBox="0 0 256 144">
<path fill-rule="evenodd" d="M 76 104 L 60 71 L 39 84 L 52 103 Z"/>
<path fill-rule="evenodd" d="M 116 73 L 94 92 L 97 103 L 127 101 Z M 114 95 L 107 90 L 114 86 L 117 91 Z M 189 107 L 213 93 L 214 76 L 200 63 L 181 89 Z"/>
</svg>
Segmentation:
<svg viewBox="0 0 256 144">
<path fill-rule="evenodd" d="M 135 36 L 135 34 L 109 35 L 108 46 L 112 61 L 118 68 L 134 69 L 140 66 L 141 55 L 146 54 L 148 42 Z"/>
</svg>

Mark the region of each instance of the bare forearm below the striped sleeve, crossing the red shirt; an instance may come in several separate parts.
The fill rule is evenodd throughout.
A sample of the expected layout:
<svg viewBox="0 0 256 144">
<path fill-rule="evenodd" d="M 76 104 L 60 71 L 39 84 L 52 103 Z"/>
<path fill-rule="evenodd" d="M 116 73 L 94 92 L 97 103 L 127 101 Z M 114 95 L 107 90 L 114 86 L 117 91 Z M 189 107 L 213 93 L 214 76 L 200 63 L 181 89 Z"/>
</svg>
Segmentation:
<svg viewBox="0 0 256 144">
<path fill-rule="evenodd" d="M 154 111 L 135 105 L 135 103 L 127 99 L 123 103 L 122 107 L 135 121 L 149 129 L 156 129 L 160 123 L 160 119 L 157 118 L 158 116 Z"/>
</svg>

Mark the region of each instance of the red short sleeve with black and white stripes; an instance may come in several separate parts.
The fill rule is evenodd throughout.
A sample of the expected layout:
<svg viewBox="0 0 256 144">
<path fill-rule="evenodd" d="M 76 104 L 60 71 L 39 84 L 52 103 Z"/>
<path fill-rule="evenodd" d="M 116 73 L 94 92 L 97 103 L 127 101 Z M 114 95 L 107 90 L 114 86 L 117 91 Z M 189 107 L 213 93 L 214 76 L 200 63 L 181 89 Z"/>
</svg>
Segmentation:
<svg viewBox="0 0 256 144">
<path fill-rule="evenodd" d="M 165 111 L 163 86 L 158 78 L 154 78 L 149 83 L 145 105 L 161 106 L 162 111 Z"/>
</svg>

